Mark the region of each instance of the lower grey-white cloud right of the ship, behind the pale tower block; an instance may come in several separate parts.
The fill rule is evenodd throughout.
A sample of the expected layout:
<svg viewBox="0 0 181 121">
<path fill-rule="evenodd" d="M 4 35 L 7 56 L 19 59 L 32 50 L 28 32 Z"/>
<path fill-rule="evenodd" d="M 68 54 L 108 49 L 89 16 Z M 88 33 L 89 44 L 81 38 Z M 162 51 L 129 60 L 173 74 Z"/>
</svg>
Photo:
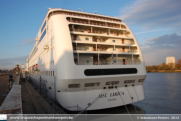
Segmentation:
<svg viewBox="0 0 181 121">
<path fill-rule="evenodd" d="M 181 59 L 181 35 L 176 33 L 152 38 L 141 43 L 141 50 L 146 65 L 158 65 L 166 61 L 166 57 Z"/>
</svg>

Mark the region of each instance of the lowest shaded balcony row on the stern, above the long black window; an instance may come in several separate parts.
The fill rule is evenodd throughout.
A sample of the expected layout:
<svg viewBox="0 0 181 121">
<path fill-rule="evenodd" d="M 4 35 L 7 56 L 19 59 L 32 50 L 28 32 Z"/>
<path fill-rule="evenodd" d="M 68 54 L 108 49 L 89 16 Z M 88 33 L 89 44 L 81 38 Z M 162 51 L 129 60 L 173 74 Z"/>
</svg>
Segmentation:
<svg viewBox="0 0 181 121">
<path fill-rule="evenodd" d="M 74 53 L 76 65 L 139 65 L 139 55 Z"/>
</svg>

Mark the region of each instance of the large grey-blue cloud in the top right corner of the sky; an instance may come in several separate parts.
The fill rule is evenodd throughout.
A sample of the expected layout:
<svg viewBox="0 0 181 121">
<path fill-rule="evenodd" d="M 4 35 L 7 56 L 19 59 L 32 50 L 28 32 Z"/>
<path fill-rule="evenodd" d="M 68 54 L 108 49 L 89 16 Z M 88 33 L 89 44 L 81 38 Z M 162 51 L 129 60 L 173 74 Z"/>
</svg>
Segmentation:
<svg viewBox="0 0 181 121">
<path fill-rule="evenodd" d="M 146 28 L 178 28 L 181 25 L 180 6 L 180 0 L 136 0 L 121 10 L 120 18 Z"/>
</svg>

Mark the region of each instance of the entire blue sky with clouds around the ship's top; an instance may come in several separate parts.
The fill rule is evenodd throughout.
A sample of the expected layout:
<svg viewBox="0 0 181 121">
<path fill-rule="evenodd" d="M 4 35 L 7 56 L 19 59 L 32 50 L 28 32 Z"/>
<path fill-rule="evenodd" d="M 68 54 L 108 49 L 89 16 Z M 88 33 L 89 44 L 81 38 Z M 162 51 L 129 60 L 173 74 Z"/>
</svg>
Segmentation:
<svg viewBox="0 0 181 121">
<path fill-rule="evenodd" d="M 118 17 L 135 34 L 146 65 L 181 59 L 180 0 L 0 0 L 0 69 L 25 64 L 49 8 Z"/>
</svg>

